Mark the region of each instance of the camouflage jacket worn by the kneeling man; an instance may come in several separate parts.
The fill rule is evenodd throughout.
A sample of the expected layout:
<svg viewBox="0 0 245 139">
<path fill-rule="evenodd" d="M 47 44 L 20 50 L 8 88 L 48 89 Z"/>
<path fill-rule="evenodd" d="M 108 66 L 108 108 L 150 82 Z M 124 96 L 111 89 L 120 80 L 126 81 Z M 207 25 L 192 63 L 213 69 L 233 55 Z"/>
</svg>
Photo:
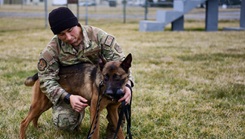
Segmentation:
<svg viewBox="0 0 245 139">
<path fill-rule="evenodd" d="M 81 62 L 96 64 L 99 52 L 102 52 L 107 61 L 124 59 L 121 47 L 112 35 L 92 26 L 82 26 L 81 28 L 84 39 L 79 50 L 62 42 L 55 35 L 40 54 L 37 66 L 40 87 L 54 105 L 69 93 L 58 83 L 60 66 Z"/>
</svg>

